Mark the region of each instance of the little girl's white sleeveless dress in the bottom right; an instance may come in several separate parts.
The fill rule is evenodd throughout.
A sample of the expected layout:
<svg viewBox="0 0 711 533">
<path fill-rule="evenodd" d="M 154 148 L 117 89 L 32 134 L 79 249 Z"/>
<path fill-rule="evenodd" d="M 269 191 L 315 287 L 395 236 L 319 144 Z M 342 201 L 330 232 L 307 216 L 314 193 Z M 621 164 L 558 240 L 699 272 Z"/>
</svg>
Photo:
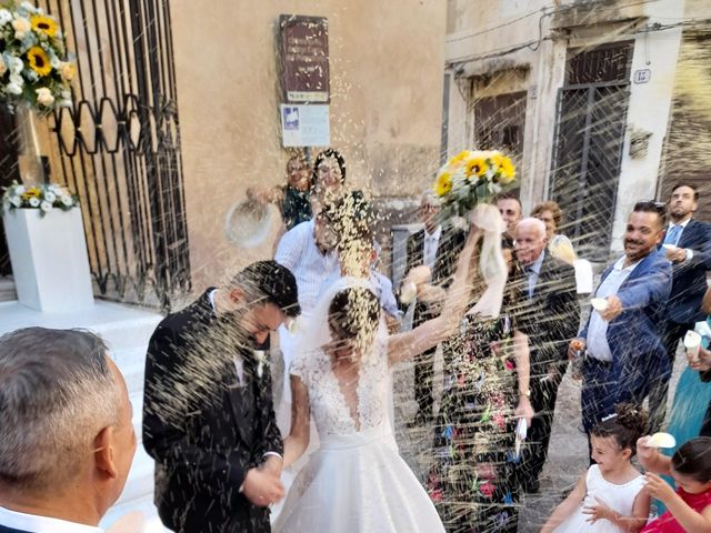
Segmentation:
<svg viewBox="0 0 711 533">
<path fill-rule="evenodd" d="M 561 523 L 553 531 L 555 533 L 623 533 L 625 531 L 624 529 L 618 527 L 608 520 L 598 520 L 594 524 L 590 524 L 588 522 L 590 515 L 583 514 L 582 511 L 588 505 L 598 505 L 598 501 L 595 500 L 595 496 L 598 496 L 618 513 L 632 516 L 634 500 L 644 486 L 644 476 L 638 475 L 623 485 L 615 485 L 614 483 L 605 481 L 604 477 L 602 477 L 600 467 L 593 464 L 588 469 L 585 485 L 588 493 L 583 502 L 565 522 Z"/>
</svg>

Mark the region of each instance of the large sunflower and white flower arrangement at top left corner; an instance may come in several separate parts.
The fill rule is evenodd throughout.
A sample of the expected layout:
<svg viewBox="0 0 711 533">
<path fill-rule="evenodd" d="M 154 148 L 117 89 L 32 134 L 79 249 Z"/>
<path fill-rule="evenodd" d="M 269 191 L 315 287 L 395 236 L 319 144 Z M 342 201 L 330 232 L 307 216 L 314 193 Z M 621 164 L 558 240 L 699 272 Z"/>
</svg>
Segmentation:
<svg viewBox="0 0 711 533">
<path fill-rule="evenodd" d="M 29 2 L 0 4 L 0 102 L 40 113 L 71 105 L 68 60 L 57 21 Z"/>
</svg>

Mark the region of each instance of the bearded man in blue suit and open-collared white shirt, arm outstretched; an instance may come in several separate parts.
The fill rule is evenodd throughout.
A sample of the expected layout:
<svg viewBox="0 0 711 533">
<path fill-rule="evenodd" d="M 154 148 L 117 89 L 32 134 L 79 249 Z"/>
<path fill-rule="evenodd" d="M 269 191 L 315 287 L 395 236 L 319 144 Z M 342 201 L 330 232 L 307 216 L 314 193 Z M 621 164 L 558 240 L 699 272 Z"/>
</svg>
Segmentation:
<svg viewBox="0 0 711 533">
<path fill-rule="evenodd" d="M 624 255 L 608 266 L 595 298 L 607 308 L 592 311 L 570 355 L 584 346 L 582 422 L 590 434 L 602 416 L 622 402 L 641 404 L 654 381 L 671 372 L 658 324 L 671 290 L 671 265 L 657 247 L 664 209 L 639 202 L 624 232 Z"/>
</svg>

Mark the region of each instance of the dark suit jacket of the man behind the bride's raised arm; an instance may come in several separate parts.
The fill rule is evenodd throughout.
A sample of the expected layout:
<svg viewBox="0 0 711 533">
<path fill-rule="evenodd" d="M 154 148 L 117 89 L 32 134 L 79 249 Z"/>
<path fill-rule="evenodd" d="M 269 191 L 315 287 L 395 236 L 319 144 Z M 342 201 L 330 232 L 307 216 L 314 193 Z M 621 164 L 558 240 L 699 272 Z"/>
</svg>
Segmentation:
<svg viewBox="0 0 711 533">
<path fill-rule="evenodd" d="M 457 270 L 459 254 L 464 248 L 467 235 L 460 229 L 451 225 L 442 227 L 442 234 L 434 255 L 434 269 L 432 270 L 432 284 L 447 289 Z M 405 274 L 415 266 L 424 264 L 424 229 L 408 238 L 408 261 Z M 414 308 L 413 325 L 432 318 L 427 303 L 418 302 Z"/>
</svg>

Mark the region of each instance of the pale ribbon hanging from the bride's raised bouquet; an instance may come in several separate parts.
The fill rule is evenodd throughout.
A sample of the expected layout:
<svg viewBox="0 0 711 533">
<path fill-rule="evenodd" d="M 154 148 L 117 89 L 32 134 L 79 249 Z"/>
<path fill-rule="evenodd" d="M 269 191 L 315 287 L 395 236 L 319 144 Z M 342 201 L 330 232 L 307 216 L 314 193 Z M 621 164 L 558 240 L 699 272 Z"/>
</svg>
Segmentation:
<svg viewBox="0 0 711 533">
<path fill-rule="evenodd" d="M 487 284 L 477 304 L 469 314 L 497 318 L 501 312 L 503 288 L 507 284 L 509 268 L 501 251 L 501 234 L 507 224 L 495 205 L 478 204 L 471 214 L 471 221 L 483 231 L 483 242 L 479 257 L 479 271 Z"/>
</svg>

